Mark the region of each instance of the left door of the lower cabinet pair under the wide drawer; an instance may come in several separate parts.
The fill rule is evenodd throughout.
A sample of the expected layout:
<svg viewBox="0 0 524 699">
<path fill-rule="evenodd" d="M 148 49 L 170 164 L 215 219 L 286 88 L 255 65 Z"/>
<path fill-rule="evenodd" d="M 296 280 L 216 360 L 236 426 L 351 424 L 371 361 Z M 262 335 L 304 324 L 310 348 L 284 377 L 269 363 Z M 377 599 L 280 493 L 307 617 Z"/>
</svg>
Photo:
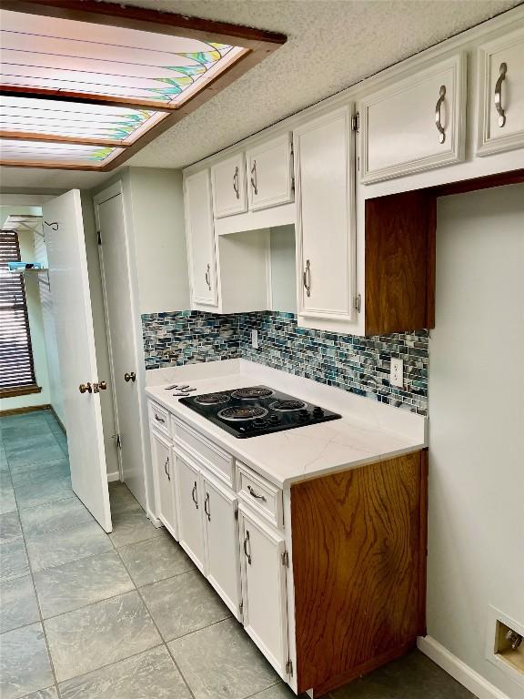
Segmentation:
<svg viewBox="0 0 524 699">
<path fill-rule="evenodd" d="M 178 453 L 176 485 L 178 542 L 200 572 L 206 574 L 200 472 Z"/>
</svg>

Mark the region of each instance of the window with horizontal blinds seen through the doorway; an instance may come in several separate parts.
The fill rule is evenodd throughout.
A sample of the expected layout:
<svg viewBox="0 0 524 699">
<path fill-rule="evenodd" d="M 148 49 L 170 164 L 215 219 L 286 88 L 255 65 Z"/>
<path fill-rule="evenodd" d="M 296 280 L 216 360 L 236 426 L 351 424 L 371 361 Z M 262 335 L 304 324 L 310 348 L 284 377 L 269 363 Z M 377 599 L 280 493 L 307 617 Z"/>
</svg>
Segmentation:
<svg viewBox="0 0 524 699">
<path fill-rule="evenodd" d="M 18 235 L 0 231 L 0 396 L 21 395 L 36 388 L 33 350 L 25 302 L 24 277 L 7 262 L 20 261 Z"/>
</svg>

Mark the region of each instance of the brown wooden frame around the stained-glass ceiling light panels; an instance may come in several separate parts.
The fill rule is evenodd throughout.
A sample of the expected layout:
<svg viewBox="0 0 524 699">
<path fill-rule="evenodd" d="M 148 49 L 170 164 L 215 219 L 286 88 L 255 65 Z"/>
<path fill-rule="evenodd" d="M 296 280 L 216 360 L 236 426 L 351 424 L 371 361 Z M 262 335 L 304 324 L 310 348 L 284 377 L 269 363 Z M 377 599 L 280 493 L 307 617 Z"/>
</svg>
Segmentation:
<svg viewBox="0 0 524 699">
<path fill-rule="evenodd" d="M 187 17 L 169 12 L 146 10 L 141 7 L 101 3 L 96 0 L 4 0 L 5 10 L 30 15 L 44 15 L 58 19 L 69 19 L 97 25 L 118 26 L 126 29 L 136 29 L 150 33 L 183 36 L 201 41 L 213 41 L 244 48 L 231 63 L 215 76 L 210 76 L 205 87 L 189 94 L 186 101 L 176 106 L 162 106 L 155 101 L 134 101 L 128 98 L 114 96 L 88 95 L 84 93 L 61 92 L 44 88 L 0 86 L 0 94 L 4 96 L 25 96 L 38 99 L 59 99 L 65 102 L 77 102 L 105 106 L 127 106 L 138 109 L 153 109 L 167 112 L 154 127 L 148 129 L 134 143 L 125 147 L 122 153 L 113 157 L 106 165 L 86 166 L 77 164 L 56 164 L 34 161 L 4 161 L 0 165 L 6 167 L 46 167 L 53 169 L 91 170 L 108 172 L 122 165 L 142 147 L 146 146 L 168 128 L 173 127 L 184 117 L 194 112 L 211 97 L 217 95 L 224 87 L 230 85 L 238 77 L 247 73 L 264 58 L 269 56 L 287 41 L 287 36 L 267 32 L 247 26 L 232 25 L 225 22 L 198 17 Z M 38 140 L 32 138 L 30 140 Z M 45 139 L 40 139 L 45 140 Z M 60 142 L 65 142 L 60 140 Z M 81 144 L 82 140 L 72 140 L 69 143 Z M 122 144 L 112 144 L 111 147 L 122 147 Z"/>
</svg>

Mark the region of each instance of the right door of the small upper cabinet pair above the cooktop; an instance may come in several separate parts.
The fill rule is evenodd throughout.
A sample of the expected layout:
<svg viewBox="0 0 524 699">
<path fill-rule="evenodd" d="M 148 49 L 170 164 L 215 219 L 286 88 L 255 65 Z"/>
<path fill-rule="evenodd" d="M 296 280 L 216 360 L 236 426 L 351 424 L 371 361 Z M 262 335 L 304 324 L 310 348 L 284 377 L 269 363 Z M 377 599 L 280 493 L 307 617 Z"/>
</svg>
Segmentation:
<svg viewBox="0 0 524 699">
<path fill-rule="evenodd" d="M 251 148 L 246 155 L 250 209 L 293 201 L 290 134 Z"/>
</svg>

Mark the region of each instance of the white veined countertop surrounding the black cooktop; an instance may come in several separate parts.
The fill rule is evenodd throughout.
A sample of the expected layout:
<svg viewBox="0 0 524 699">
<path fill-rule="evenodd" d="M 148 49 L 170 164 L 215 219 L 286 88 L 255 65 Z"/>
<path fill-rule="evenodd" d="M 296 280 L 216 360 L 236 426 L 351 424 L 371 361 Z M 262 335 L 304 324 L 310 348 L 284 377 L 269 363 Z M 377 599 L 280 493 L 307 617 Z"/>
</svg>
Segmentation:
<svg viewBox="0 0 524 699">
<path fill-rule="evenodd" d="M 147 372 L 146 393 L 208 439 L 280 488 L 333 471 L 384 461 L 427 446 L 427 419 L 347 391 L 246 360 Z M 192 396 L 264 384 L 335 410 L 340 420 L 238 439 L 179 403 L 166 385 L 184 382 Z"/>
</svg>

